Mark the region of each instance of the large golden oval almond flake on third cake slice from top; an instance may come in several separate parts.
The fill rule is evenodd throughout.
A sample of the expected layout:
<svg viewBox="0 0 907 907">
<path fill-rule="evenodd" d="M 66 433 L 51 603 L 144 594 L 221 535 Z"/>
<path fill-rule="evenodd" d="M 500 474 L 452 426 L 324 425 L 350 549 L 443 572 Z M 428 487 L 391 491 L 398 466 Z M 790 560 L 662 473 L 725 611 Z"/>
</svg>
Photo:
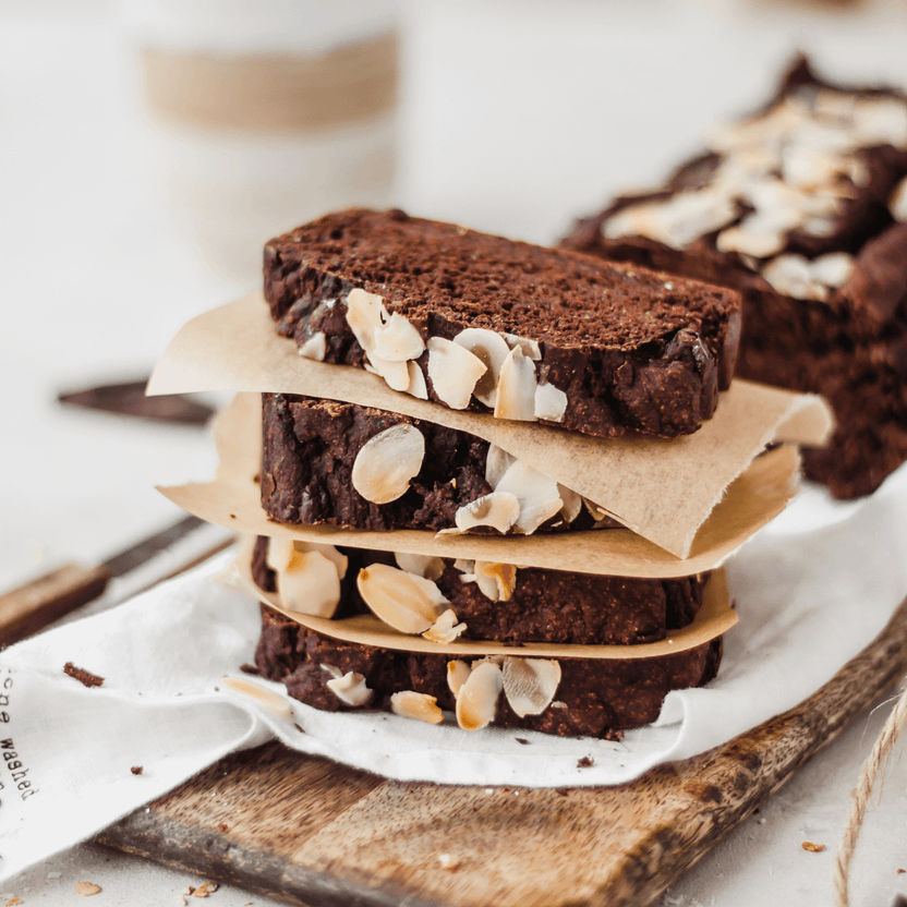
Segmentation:
<svg viewBox="0 0 907 907">
<path fill-rule="evenodd" d="M 431 580 L 386 564 L 360 570 L 356 585 L 370 609 L 401 633 L 424 633 L 449 604 Z"/>
</svg>

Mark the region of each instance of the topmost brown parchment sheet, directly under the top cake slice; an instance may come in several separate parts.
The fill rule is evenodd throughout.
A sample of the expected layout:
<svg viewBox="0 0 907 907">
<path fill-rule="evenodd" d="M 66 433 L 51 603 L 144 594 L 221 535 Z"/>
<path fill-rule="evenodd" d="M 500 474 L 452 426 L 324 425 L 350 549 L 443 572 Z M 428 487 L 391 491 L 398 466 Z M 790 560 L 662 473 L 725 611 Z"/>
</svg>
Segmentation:
<svg viewBox="0 0 907 907">
<path fill-rule="evenodd" d="M 450 410 L 391 390 L 364 370 L 303 359 L 292 340 L 277 335 L 259 293 L 186 324 L 148 384 L 150 395 L 201 390 L 327 397 L 469 432 L 584 495 L 678 557 L 692 553 L 697 532 L 727 486 L 766 444 L 822 444 L 833 421 L 820 397 L 741 380 L 722 395 L 714 418 L 696 434 L 673 440 L 591 438 Z"/>
</svg>

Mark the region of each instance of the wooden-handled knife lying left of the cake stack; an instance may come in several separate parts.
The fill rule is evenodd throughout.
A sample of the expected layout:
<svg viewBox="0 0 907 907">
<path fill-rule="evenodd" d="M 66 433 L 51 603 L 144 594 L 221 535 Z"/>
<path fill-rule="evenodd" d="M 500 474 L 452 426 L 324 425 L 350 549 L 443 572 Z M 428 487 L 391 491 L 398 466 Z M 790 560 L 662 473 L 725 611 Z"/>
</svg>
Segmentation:
<svg viewBox="0 0 907 907">
<path fill-rule="evenodd" d="M 86 567 L 64 564 L 0 595 L 0 646 L 11 645 L 97 598 L 114 577 L 122 577 L 206 525 L 197 517 L 183 517 L 166 529 L 118 552 L 102 564 Z M 221 539 L 204 556 L 222 551 L 232 539 Z M 183 568 L 202 559 L 197 555 Z M 178 571 L 179 572 L 179 571 Z"/>
</svg>

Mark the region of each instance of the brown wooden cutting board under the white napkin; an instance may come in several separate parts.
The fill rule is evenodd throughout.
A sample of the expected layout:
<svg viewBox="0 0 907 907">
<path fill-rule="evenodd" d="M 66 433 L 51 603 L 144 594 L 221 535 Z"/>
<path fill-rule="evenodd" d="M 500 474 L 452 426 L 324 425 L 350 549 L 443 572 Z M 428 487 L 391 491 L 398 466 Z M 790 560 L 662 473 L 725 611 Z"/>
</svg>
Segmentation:
<svg viewBox="0 0 907 907">
<path fill-rule="evenodd" d="M 404 784 L 273 743 L 218 762 L 99 841 L 310 907 L 641 907 L 905 669 L 907 601 L 796 709 L 631 784 Z M 442 854 L 459 866 L 443 869 Z"/>
</svg>

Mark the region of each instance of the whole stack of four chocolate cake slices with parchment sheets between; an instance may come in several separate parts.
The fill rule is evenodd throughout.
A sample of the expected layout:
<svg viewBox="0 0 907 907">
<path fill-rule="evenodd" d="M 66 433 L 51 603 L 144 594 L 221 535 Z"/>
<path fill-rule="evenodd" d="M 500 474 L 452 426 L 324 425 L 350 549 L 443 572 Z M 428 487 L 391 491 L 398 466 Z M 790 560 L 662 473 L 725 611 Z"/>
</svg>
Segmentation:
<svg viewBox="0 0 907 907">
<path fill-rule="evenodd" d="M 735 291 L 354 209 L 268 243 L 265 301 L 191 323 L 153 379 L 263 391 L 221 420 L 218 480 L 166 489 L 247 534 L 263 676 L 322 710 L 605 738 L 715 676 L 736 620 L 716 568 L 793 493 L 796 452 L 757 455 L 827 430 L 818 400 L 771 391 L 757 416 L 761 389 L 725 392 Z M 652 467 L 675 455 L 704 489 Z M 590 485 L 597 462 L 619 473 Z M 704 499 L 698 547 L 658 547 L 664 497 Z"/>
</svg>

